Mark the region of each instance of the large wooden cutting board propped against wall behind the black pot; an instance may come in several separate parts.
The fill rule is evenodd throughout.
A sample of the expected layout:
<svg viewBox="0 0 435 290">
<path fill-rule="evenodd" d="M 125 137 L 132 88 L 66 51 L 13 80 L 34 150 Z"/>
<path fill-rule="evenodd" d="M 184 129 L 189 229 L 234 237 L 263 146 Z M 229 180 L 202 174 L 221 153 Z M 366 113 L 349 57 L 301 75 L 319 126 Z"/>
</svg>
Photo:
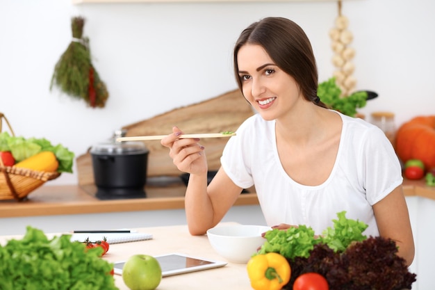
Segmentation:
<svg viewBox="0 0 435 290">
<path fill-rule="evenodd" d="M 244 120 L 254 112 L 240 90 L 232 90 L 223 95 L 207 99 L 204 102 L 176 108 L 153 118 L 134 124 L 127 124 L 126 136 L 165 135 L 172 133 L 177 125 L 184 134 L 219 133 L 236 131 Z M 227 138 L 202 139 L 206 147 L 208 170 L 220 168 L 220 156 L 227 143 Z M 169 150 L 158 140 L 144 141 L 149 149 L 147 176 L 178 176 L 181 172 L 174 166 Z M 92 158 L 89 152 L 76 158 L 79 184 L 94 184 Z"/>
</svg>

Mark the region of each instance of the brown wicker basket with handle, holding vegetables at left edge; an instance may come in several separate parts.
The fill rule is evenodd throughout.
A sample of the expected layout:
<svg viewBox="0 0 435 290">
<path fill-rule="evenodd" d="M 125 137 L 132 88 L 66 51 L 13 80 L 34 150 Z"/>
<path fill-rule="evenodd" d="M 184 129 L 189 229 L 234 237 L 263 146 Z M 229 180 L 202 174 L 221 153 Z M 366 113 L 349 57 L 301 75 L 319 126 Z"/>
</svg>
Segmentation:
<svg viewBox="0 0 435 290">
<path fill-rule="evenodd" d="M 1 122 L 6 121 L 10 133 L 14 135 L 12 127 L 3 113 L 0 113 L 0 132 Z M 60 176 L 60 172 L 42 172 L 26 168 L 15 168 L 4 166 L 0 158 L 0 200 L 25 200 L 27 195 L 45 182 Z"/>
</svg>

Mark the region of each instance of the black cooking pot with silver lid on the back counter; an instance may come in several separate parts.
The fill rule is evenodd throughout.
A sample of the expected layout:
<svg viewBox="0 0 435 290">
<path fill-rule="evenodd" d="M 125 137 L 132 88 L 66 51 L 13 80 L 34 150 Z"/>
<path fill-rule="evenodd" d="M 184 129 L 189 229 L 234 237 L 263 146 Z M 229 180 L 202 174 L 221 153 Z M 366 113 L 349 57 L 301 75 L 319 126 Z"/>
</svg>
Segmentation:
<svg viewBox="0 0 435 290">
<path fill-rule="evenodd" d="M 122 131 L 124 132 L 124 131 Z M 117 142 L 124 136 L 115 131 L 113 139 L 90 150 L 95 185 L 98 188 L 142 189 L 147 182 L 147 147 L 142 142 Z M 119 191 L 117 191 L 119 192 Z"/>
</svg>

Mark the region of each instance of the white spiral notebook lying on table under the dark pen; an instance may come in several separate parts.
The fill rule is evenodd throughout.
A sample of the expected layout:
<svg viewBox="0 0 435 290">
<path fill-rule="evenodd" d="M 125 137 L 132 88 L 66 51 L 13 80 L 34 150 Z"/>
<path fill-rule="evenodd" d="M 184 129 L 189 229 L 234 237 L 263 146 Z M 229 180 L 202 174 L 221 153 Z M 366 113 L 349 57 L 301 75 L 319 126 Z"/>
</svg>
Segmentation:
<svg viewBox="0 0 435 290">
<path fill-rule="evenodd" d="M 143 232 L 127 232 L 127 233 L 74 233 L 71 236 L 71 241 L 84 242 L 86 239 L 90 241 L 102 241 L 106 238 L 108 243 L 129 243 L 133 241 L 146 241 L 153 238 L 152 234 Z"/>
</svg>

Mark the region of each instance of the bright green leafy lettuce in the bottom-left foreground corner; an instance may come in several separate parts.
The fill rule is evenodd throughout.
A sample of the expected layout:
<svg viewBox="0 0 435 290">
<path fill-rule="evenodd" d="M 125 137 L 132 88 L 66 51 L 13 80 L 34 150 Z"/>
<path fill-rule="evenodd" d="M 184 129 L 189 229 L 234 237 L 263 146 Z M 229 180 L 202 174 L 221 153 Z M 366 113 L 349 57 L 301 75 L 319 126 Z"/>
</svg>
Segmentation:
<svg viewBox="0 0 435 290">
<path fill-rule="evenodd" d="M 86 249 L 65 234 L 48 239 L 28 226 L 25 236 L 0 245 L 0 289 L 115 290 L 113 264 L 101 259 L 103 248 Z"/>
</svg>

